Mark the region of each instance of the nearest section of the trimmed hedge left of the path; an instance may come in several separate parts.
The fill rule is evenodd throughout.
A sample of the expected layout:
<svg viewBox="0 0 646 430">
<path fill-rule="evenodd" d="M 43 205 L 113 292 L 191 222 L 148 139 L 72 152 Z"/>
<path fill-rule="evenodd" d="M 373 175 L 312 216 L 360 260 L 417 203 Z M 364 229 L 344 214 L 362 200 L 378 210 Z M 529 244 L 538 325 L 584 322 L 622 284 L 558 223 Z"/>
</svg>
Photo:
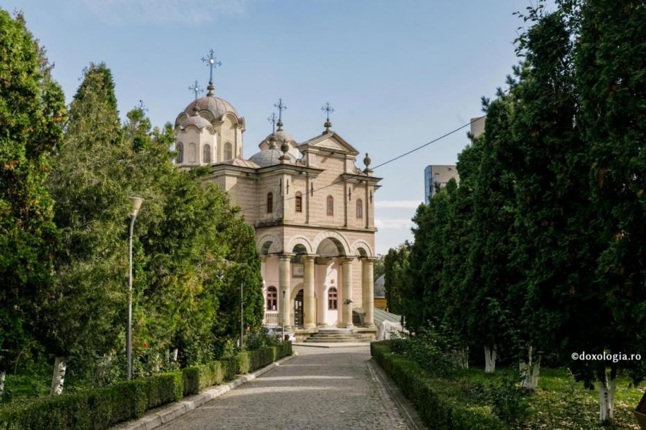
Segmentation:
<svg viewBox="0 0 646 430">
<path fill-rule="evenodd" d="M 0 408 L 0 430 L 107 429 L 140 418 L 149 408 L 176 402 L 182 391 L 181 373 L 169 372 L 26 404 L 15 402 Z"/>
</svg>

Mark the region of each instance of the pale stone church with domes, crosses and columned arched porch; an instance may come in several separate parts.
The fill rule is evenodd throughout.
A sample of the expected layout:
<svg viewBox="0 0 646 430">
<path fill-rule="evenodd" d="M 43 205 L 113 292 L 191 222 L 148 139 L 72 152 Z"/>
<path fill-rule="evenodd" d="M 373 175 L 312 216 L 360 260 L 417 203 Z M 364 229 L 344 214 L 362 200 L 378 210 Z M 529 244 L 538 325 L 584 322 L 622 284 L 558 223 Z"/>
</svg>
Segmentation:
<svg viewBox="0 0 646 430">
<path fill-rule="evenodd" d="M 297 142 L 277 130 L 245 160 L 245 119 L 215 96 L 213 83 L 175 122 L 177 164 L 210 166 L 220 185 L 256 230 L 263 261 L 265 324 L 297 335 L 322 327 L 373 332 L 374 193 L 379 178 L 370 158 L 324 124 Z M 282 113 L 282 111 L 281 111 Z"/>
</svg>

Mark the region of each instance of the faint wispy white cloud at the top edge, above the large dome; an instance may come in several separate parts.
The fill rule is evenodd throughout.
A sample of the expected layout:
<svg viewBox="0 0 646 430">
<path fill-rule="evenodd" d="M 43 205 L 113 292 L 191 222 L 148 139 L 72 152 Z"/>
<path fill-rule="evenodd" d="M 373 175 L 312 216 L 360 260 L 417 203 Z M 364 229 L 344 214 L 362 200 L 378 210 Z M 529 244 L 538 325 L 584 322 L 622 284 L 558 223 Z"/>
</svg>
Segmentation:
<svg viewBox="0 0 646 430">
<path fill-rule="evenodd" d="M 78 0 L 107 24 L 202 24 L 222 15 L 243 15 L 248 0 Z"/>
</svg>

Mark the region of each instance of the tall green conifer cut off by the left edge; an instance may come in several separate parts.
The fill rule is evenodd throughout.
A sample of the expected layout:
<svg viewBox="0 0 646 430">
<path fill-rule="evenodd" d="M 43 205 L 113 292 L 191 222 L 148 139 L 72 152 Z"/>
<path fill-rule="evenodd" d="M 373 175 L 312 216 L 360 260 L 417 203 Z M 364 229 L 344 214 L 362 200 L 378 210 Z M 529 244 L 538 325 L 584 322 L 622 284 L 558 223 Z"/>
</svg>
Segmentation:
<svg viewBox="0 0 646 430">
<path fill-rule="evenodd" d="M 58 232 L 43 182 L 63 137 L 65 98 L 22 15 L 0 10 L 0 396 L 51 294 Z"/>
</svg>

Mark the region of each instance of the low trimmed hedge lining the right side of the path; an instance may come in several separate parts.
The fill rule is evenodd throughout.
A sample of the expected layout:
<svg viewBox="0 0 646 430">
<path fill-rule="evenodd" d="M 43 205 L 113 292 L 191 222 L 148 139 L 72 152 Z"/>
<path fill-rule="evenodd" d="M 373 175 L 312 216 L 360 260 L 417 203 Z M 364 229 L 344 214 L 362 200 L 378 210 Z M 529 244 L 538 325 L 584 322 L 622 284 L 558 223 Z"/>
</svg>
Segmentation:
<svg viewBox="0 0 646 430">
<path fill-rule="evenodd" d="M 370 354 L 415 406 L 429 429 L 499 430 L 507 426 L 488 406 L 470 402 L 457 381 L 431 377 L 411 359 L 392 353 L 392 341 L 370 343 Z"/>
</svg>

